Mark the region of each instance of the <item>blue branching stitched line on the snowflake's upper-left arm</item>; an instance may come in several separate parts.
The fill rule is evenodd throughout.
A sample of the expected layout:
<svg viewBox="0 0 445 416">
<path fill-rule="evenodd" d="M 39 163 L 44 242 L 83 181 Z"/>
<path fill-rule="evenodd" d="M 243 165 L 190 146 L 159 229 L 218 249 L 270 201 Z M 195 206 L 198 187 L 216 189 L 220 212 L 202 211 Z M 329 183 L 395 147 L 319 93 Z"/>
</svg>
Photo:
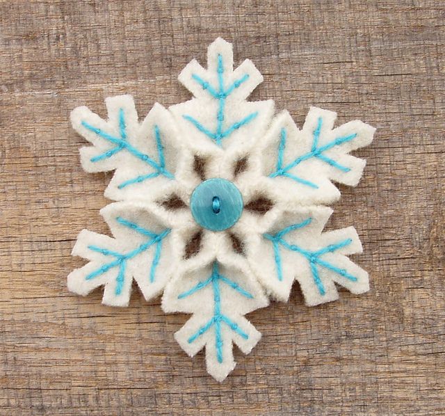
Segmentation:
<svg viewBox="0 0 445 416">
<path fill-rule="evenodd" d="M 140 175 L 138 177 L 135 177 L 133 179 L 129 179 L 125 182 L 122 182 L 118 186 L 119 189 L 124 188 L 125 186 L 136 184 L 140 182 L 144 182 L 147 179 L 152 179 L 154 177 L 158 177 L 159 175 L 163 175 L 167 177 L 168 179 L 173 179 L 175 176 L 170 173 L 168 170 L 165 169 L 165 158 L 164 158 L 164 152 L 163 152 L 163 145 L 161 143 L 161 133 L 159 131 L 159 127 L 157 125 L 154 126 L 154 138 L 156 140 L 156 148 L 158 152 L 159 157 L 159 163 L 154 161 L 151 157 L 149 157 L 147 154 L 144 154 L 140 152 L 136 147 L 128 143 L 127 141 L 127 131 L 126 131 L 126 125 L 125 125 L 125 115 L 124 115 L 124 109 L 119 110 L 119 132 L 120 137 L 111 136 L 111 134 L 106 133 L 105 131 L 102 131 L 101 129 L 98 129 L 97 127 L 94 127 L 90 125 L 86 121 L 82 121 L 81 124 L 86 129 L 92 131 L 93 133 L 97 134 L 97 136 L 100 136 L 104 138 L 106 141 L 113 143 L 117 145 L 116 147 L 113 147 L 110 150 L 107 150 L 106 152 L 99 154 L 95 157 L 92 157 L 90 161 L 97 162 L 102 161 L 104 159 L 108 159 L 113 156 L 113 154 L 116 154 L 120 152 L 121 150 L 125 149 L 127 152 L 132 154 L 137 159 L 140 159 L 147 163 L 149 166 L 154 168 L 156 172 L 149 173 L 147 175 Z"/>
</svg>

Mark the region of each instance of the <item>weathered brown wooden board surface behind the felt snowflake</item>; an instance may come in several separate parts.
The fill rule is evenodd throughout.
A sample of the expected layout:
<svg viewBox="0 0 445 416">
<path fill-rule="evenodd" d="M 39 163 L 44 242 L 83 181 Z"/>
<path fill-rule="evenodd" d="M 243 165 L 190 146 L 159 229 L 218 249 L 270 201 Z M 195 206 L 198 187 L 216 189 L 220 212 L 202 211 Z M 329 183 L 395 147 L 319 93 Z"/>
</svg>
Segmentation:
<svg viewBox="0 0 445 416">
<path fill-rule="evenodd" d="M 3 0 L 0 21 L 1 415 L 444 414 L 444 1 Z M 250 314 L 263 339 L 222 384 L 173 339 L 186 315 L 65 286 L 110 179 L 81 170 L 70 111 L 187 99 L 218 35 L 264 74 L 253 99 L 378 128 L 330 221 L 357 227 L 371 291 Z"/>
</svg>

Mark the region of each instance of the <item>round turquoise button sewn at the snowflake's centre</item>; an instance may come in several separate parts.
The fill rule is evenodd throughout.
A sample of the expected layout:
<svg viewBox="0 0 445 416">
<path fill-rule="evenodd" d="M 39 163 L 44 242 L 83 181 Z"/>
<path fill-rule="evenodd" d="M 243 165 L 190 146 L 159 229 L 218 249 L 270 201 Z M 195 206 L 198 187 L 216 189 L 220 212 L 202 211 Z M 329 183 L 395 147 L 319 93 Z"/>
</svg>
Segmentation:
<svg viewBox="0 0 445 416">
<path fill-rule="evenodd" d="M 243 197 L 232 182 L 216 177 L 199 184 L 192 193 L 190 209 L 195 221 L 207 230 L 232 227 L 243 212 Z"/>
</svg>

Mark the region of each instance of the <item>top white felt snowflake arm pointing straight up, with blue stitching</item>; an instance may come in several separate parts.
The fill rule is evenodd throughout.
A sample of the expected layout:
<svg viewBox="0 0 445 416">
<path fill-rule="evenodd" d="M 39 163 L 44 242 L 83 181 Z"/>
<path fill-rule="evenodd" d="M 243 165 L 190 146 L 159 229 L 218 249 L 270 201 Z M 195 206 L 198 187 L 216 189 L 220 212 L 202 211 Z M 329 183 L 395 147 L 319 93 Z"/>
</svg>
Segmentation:
<svg viewBox="0 0 445 416">
<path fill-rule="evenodd" d="M 209 46 L 207 67 L 192 61 L 184 68 L 179 81 L 195 99 L 170 107 L 184 131 L 205 143 L 201 150 L 212 149 L 211 143 L 230 147 L 247 128 L 265 129 L 273 102 L 245 101 L 263 80 L 253 63 L 246 60 L 234 70 L 232 45 L 219 38 Z"/>
</svg>

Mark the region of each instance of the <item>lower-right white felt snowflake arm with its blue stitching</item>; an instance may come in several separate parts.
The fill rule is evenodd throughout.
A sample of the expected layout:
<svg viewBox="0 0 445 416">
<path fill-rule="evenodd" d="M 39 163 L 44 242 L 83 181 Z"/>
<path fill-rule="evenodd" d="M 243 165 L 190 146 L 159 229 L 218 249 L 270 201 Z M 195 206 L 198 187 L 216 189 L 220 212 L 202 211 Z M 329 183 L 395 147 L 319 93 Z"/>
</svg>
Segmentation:
<svg viewBox="0 0 445 416">
<path fill-rule="evenodd" d="M 368 274 L 346 257 L 362 252 L 353 227 L 322 233 L 331 213 L 325 207 L 285 212 L 273 231 L 258 239 L 251 266 L 275 298 L 287 301 L 294 279 L 307 305 L 336 300 L 334 283 L 354 294 L 369 290 Z"/>
</svg>

